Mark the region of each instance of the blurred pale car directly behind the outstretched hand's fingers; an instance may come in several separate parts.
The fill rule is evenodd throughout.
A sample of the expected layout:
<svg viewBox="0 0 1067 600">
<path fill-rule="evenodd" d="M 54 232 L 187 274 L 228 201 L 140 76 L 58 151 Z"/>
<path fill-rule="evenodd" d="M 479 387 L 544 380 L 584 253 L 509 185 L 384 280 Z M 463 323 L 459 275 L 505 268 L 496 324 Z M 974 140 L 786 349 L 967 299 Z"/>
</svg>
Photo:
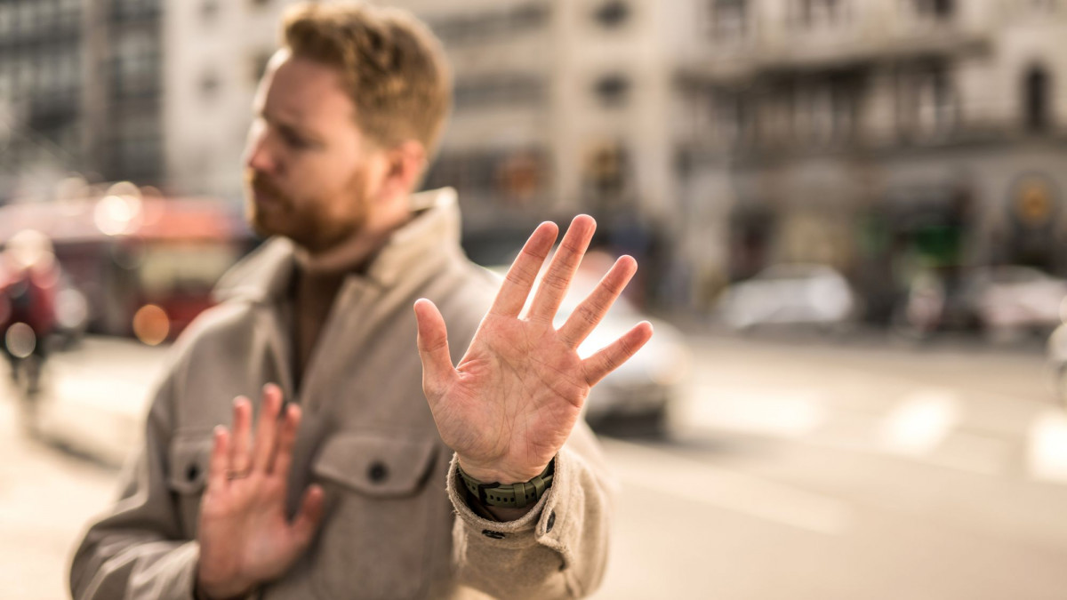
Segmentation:
<svg viewBox="0 0 1067 600">
<path fill-rule="evenodd" d="M 593 253 L 587 255 L 583 267 L 589 271 L 579 270 L 571 282 L 556 314 L 554 322 L 557 328 L 593 290 L 600 281 L 599 275 L 607 270 L 605 265 L 610 266 L 609 258 L 602 258 Z M 489 268 L 501 280 L 507 269 L 506 266 Z M 627 433 L 663 432 L 668 407 L 678 395 L 689 368 L 689 349 L 678 328 L 642 314 L 620 297 L 578 347 L 578 356 L 587 358 L 595 353 L 642 320 L 652 323 L 652 338 L 633 358 L 601 380 L 586 400 L 585 417 L 593 428 L 618 429 Z"/>
</svg>

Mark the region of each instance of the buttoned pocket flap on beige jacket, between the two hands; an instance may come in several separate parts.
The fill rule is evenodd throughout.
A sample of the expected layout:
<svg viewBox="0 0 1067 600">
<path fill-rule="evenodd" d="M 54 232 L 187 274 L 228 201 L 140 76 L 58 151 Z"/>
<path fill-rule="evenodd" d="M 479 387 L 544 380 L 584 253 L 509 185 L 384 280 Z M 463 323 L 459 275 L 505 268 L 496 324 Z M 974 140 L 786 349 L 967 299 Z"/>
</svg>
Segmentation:
<svg viewBox="0 0 1067 600">
<path fill-rule="evenodd" d="M 425 481 L 436 454 L 433 440 L 378 432 L 336 433 L 322 445 L 315 474 L 359 492 L 399 496 Z"/>
</svg>

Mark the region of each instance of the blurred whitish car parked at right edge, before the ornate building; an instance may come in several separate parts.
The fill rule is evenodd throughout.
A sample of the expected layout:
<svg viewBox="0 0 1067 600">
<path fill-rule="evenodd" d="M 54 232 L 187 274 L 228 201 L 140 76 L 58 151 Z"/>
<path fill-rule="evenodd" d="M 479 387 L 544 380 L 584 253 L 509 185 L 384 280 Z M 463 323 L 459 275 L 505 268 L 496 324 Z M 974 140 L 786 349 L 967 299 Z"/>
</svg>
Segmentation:
<svg viewBox="0 0 1067 600">
<path fill-rule="evenodd" d="M 986 267 L 971 272 L 962 294 L 988 332 L 1048 331 L 1061 322 L 1067 281 L 1032 267 Z"/>
</svg>

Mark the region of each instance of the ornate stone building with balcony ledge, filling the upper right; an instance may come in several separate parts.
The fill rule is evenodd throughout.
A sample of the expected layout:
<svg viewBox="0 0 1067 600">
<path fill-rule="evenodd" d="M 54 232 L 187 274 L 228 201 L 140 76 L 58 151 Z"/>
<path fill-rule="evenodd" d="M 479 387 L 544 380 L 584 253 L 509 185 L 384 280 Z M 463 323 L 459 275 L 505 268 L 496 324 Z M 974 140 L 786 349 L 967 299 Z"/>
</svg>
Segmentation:
<svg viewBox="0 0 1067 600">
<path fill-rule="evenodd" d="M 697 298 L 774 263 L 823 263 L 883 319 L 917 268 L 1067 269 L 1065 2 L 694 6 L 704 43 L 675 82 Z"/>
</svg>

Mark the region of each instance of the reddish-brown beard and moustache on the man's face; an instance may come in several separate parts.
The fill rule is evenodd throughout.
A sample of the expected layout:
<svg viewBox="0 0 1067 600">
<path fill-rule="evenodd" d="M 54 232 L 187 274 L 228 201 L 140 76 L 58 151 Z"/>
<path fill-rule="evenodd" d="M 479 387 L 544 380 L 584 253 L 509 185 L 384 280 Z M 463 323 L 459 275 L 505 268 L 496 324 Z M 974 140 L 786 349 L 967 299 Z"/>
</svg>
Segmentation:
<svg viewBox="0 0 1067 600">
<path fill-rule="evenodd" d="M 301 202 L 283 191 L 271 178 L 255 170 L 246 170 L 245 217 L 261 237 L 283 236 L 313 253 L 329 250 L 363 228 L 367 219 L 365 201 L 357 193 L 362 178 L 353 174 L 345 187 L 348 201 L 355 210 L 346 211 L 344 219 L 322 210 L 321 203 Z"/>
</svg>

